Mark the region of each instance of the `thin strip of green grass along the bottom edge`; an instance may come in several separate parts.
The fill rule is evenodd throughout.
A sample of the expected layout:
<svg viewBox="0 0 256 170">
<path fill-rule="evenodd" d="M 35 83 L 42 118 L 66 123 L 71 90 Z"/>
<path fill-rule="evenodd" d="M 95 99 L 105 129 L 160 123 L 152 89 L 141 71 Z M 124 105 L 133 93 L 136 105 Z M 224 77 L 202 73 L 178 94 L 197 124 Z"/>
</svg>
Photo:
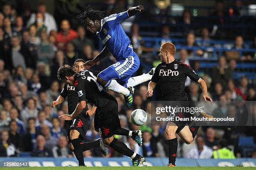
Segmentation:
<svg viewBox="0 0 256 170">
<path fill-rule="evenodd" d="M 23 167 L 5 170 L 168 170 L 170 167 Z M 255 167 L 175 167 L 175 170 L 255 170 Z"/>
</svg>

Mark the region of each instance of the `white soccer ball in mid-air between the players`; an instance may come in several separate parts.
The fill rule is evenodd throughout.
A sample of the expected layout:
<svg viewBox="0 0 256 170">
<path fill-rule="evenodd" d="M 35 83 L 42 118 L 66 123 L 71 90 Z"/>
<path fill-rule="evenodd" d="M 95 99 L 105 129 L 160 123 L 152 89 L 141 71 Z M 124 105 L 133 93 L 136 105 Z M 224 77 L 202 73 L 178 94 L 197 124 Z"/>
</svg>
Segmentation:
<svg viewBox="0 0 256 170">
<path fill-rule="evenodd" d="M 143 125 L 148 119 L 146 112 L 142 109 L 133 110 L 131 113 L 131 121 L 134 125 L 141 126 Z"/>
</svg>

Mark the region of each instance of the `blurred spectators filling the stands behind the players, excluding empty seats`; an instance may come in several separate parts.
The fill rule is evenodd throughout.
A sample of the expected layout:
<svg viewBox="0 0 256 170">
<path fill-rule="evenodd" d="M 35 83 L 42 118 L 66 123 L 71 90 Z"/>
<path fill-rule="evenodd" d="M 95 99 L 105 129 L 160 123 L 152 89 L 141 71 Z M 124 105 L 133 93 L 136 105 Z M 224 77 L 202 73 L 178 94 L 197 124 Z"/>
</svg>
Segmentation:
<svg viewBox="0 0 256 170">
<path fill-rule="evenodd" d="M 115 2 L 115 0 L 113 0 Z M 218 1 L 219 2 L 219 1 Z M 218 22 L 223 22 L 223 7 L 218 5 L 216 15 Z M 117 8 L 113 4 L 105 5 L 106 16 L 113 11 L 122 12 L 126 10 L 122 4 L 124 1 L 116 0 Z M 221 9 L 219 9 L 221 8 Z M 115 9 L 115 10 L 113 10 Z M 74 61 L 82 58 L 85 61 L 91 60 L 100 52 L 97 37 L 87 35 L 83 25 L 72 27 L 70 20 L 56 22 L 53 15 L 46 12 L 46 5 L 39 4 L 35 13 L 28 13 L 28 10 L 17 11 L 16 8 L 6 3 L 0 13 L 0 156 L 20 156 L 29 152 L 35 157 L 73 157 L 68 148 L 67 124 L 60 122 L 59 115 L 68 114 L 67 101 L 58 107 L 52 108 L 51 102 L 59 96 L 63 83 L 56 77 L 57 69 L 64 64 L 73 65 Z M 240 15 L 237 10 L 236 15 Z M 201 35 L 195 35 L 195 31 L 189 30 L 192 24 L 190 13 L 185 11 L 183 22 L 184 46 L 200 47 L 195 40 L 210 39 L 209 30 L 202 28 Z M 74 16 L 69 18 L 74 20 Z M 156 18 L 157 19 L 157 18 Z M 217 21 L 216 21 L 217 22 Z M 59 24 L 57 24 L 59 23 Z M 59 27 L 58 27 L 59 25 Z M 162 27 L 161 37 L 163 41 L 171 40 L 170 28 L 167 25 Z M 141 67 L 138 75 L 149 71 L 148 68 L 159 63 L 157 55 L 152 56 L 147 52 L 146 42 L 141 42 L 138 24 L 134 23 L 129 34 L 134 49 L 141 58 Z M 143 47 L 145 45 L 145 47 Z M 211 44 L 204 44 L 204 46 Z M 256 47 L 256 37 L 251 45 Z M 241 35 L 234 38 L 234 49 L 244 48 Z M 146 51 L 146 52 L 145 52 Z M 146 58 L 148 55 L 150 57 Z M 193 64 L 197 72 L 200 70 L 198 62 L 191 62 L 193 56 L 205 56 L 207 52 L 197 49 L 195 52 L 188 49 L 177 51 L 179 60 Z M 254 53 L 243 53 L 241 60 L 253 60 Z M 108 56 L 92 67 L 93 70 L 103 70 L 115 61 Z M 191 62 L 191 63 L 190 63 Z M 233 80 L 233 72 L 236 68 L 235 59 L 227 60 L 225 56 L 218 56 L 218 65 L 213 67 L 211 72 L 200 72 L 207 83 L 210 95 L 213 100 L 221 101 L 220 108 L 223 114 L 236 112 L 237 106 L 229 106 L 230 101 L 255 101 L 256 91 L 253 81 L 247 77 Z M 148 64 L 150 63 L 150 64 Z M 149 66 L 148 66 L 149 65 Z M 254 70 L 255 71 L 255 70 Z M 197 83 L 187 79 L 186 90 L 189 100 L 201 101 L 202 94 Z M 116 136 L 136 153 L 147 157 L 168 156 L 168 140 L 164 135 L 164 126 L 151 125 L 151 101 L 161 99 L 160 92 L 155 90 L 152 98 L 146 97 L 147 83 L 136 87 L 134 94 L 134 106 L 126 108 L 123 96 L 110 91 L 118 101 L 120 123 L 123 128 L 143 131 L 143 146 L 138 147 L 131 138 Z M 134 109 L 141 108 L 148 114 L 148 121 L 143 126 L 136 126 L 131 123 L 130 115 Z M 214 111 L 214 109 L 212 109 Z M 227 150 L 230 158 L 251 156 L 256 158 L 256 151 L 244 155 L 238 147 L 240 136 L 256 136 L 256 128 L 248 126 L 239 130 L 228 127 L 202 127 L 198 132 L 196 140 L 185 144 L 179 140 L 177 157 L 182 158 L 218 158 L 218 150 Z M 94 130 L 93 116 L 90 120 L 90 130 L 87 131 L 87 141 L 93 141 L 100 137 Z M 229 141 L 229 142 L 227 142 Z M 232 141 L 232 142 L 230 142 Z M 167 148 L 166 148 L 167 147 Z M 100 150 L 88 150 L 84 157 L 102 156 Z M 110 150 L 110 157 L 120 156 Z"/>
</svg>

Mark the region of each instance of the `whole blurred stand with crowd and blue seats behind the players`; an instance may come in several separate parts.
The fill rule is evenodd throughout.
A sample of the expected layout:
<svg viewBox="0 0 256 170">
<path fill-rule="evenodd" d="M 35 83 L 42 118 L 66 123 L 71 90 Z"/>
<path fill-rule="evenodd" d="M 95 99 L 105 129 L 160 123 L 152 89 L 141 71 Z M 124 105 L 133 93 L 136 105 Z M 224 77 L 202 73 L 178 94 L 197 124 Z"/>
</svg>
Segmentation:
<svg viewBox="0 0 256 170">
<path fill-rule="evenodd" d="M 41 3 L 44 2 L 44 3 Z M 143 13 L 129 18 L 122 26 L 141 60 L 137 75 L 160 62 L 161 43 L 177 47 L 177 60 L 194 68 L 207 83 L 212 108 L 223 115 L 241 111 L 230 101 L 255 101 L 256 83 L 256 3 L 253 0 L 2 0 L 0 2 L 0 156 L 73 157 L 67 147 L 67 124 L 58 116 L 68 114 L 67 101 L 56 108 L 63 83 L 57 69 L 82 58 L 91 60 L 102 49 L 95 35 L 87 33 L 76 15 L 88 4 L 108 16 L 141 4 Z M 107 56 L 92 69 L 103 70 L 115 62 Z M 136 76 L 136 75 L 134 75 Z M 201 101 L 197 83 L 186 80 L 189 100 Z M 159 88 L 146 97 L 147 83 L 136 87 L 134 106 L 126 108 L 123 96 L 111 92 L 118 101 L 123 128 L 143 130 L 143 146 L 116 136 L 137 153 L 148 157 L 168 156 L 164 126 L 152 126 L 151 101 L 161 100 Z M 148 114 L 143 126 L 131 123 L 134 109 Z M 216 111 L 216 110 L 215 110 Z M 99 138 L 93 117 L 86 141 Z M 177 157 L 256 158 L 255 128 L 202 127 L 190 145 L 179 140 Z M 228 142 L 227 142 L 228 141 Z M 202 154 L 204 153 L 204 154 Z M 99 150 L 84 157 L 102 156 Z M 110 150 L 109 156 L 121 156 Z"/>
</svg>

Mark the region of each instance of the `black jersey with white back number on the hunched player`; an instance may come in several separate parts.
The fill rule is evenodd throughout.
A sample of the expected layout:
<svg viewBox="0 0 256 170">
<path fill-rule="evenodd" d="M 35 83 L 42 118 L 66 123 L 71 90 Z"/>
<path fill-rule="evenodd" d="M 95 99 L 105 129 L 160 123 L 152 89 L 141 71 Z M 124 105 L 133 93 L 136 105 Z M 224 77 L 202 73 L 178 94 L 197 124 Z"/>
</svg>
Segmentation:
<svg viewBox="0 0 256 170">
<path fill-rule="evenodd" d="M 92 70 L 82 70 L 74 76 L 74 87 L 78 94 L 78 102 L 90 101 L 96 107 L 105 107 L 108 102 L 115 101 L 105 87 L 97 82 L 97 73 Z"/>
</svg>

